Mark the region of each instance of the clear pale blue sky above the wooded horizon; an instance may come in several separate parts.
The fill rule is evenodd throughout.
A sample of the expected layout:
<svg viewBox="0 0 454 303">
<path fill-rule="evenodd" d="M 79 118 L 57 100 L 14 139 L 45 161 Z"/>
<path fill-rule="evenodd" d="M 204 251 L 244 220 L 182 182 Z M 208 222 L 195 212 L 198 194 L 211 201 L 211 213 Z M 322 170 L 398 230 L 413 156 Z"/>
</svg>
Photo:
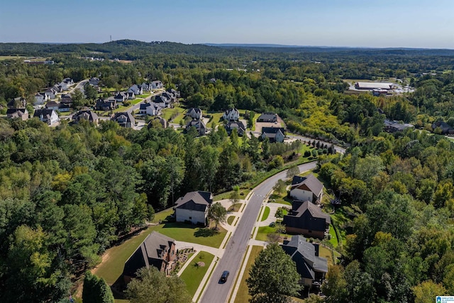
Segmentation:
<svg viewBox="0 0 454 303">
<path fill-rule="evenodd" d="M 0 42 L 454 49 L 453 0 L 1 0 Z"/>
</svg>

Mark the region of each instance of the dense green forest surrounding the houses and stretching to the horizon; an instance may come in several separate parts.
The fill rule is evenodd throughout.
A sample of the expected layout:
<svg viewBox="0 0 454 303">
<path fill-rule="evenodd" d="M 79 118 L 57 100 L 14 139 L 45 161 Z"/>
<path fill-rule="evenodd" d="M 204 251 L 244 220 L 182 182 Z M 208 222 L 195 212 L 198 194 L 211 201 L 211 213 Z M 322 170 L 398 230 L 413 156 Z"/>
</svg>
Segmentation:
<svg viewBox="0 0 454 303">
<path fill-rule="evenodd" d="M 90 61 L 96 56 L 133 60 Z M 216 48 L 114 41 L 101 45 L 0 44 L 0 106 L 64 77 L 106 87 L 160 79 L 184 104 L 274 111 L 292 133 L 348 147 L 322 155 L 319 176 L 340 197 L 342 262 L 323 285 L 326 302 L 424 302 L 454 292 L 454 143 L 431 123 L 454 126 L 450 50 Z M 345 94 L 351 79 L 399 78 L 414 93 Z M 346 83 L 347 80 L 349 83 Z M 380 109 L 377 110 L 377 109 Z M 31 109 L 33 110 L 33 109 Z M 416 129 L 385 133 L 384 119 Z M 214 193 L 282 166 L 298 146 L 116 123 L 0 120 L 0 299 L 59 302 L 101 253 L 190 190 Z M 288 160 L 288 159 L 286 159 Z"/>
</svg>

